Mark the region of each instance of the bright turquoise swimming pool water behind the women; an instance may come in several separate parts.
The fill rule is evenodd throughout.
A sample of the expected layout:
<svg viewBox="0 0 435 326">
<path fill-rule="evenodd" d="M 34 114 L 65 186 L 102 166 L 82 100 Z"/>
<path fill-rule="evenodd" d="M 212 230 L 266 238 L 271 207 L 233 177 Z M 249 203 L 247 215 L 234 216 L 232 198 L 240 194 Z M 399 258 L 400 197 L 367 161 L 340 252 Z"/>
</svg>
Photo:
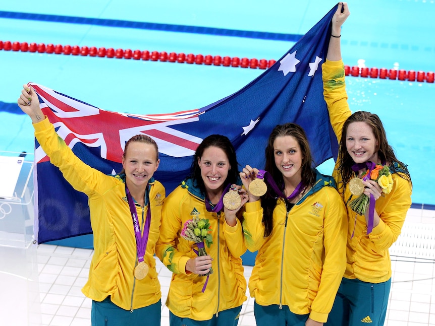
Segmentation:
<svg viewBox="0 0 435 326">
<path fill-rule="evenodd" d="M 243 31 L 304 34 L 336 3 L 230 1 L 164 3 L 85 1 L 73 4 L 24 1 L 5 12 L 29 12 L 100 19 L 157 22 Z M 24 9 L 26 10 L 24 10 Z M 343 27 L 345 64 L 434 71 L 433 1 L 389 0 L 350 4 Z M 433 25 L 433 24 L 432 24 Z M 292 42 L 163 32 L 37 20 L 0 19 L 3 41 L 147 49 L 149 51 L 277 59 Z M 361 61 L 365 60 L 364 62 Z M 98 107 L 130 113 L 169 113 L 205 106 L 228 96 L 261 74 L 259 69 L 127 60 L 90 56 L 0 51 L 0 101 L 14 103 L 21 85 L 32 81 Z M 409 164 L 413 203 L 435 204 L 434 84 L 348 77 L 352 110 L 377 113 L 399 159 Z M 32 127 L 24 115 L 0 112 L 0 151 L 33 151 Z M 261 150 L 262 151 L 262 150 Z M 426 163 L 427 162 L 427 163 Z M 331 173 L 332 163 L 322 165 Z"/>
</svg>

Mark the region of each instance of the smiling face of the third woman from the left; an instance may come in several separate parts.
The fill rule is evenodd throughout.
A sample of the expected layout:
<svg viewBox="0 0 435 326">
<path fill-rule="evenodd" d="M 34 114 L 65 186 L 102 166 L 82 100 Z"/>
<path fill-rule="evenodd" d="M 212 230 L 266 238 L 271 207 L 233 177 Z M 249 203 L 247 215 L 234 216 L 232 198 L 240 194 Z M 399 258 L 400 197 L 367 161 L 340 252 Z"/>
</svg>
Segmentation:
<svg viewBox="0 0 435 326">
<path fill-rule="evenodd" d="M 292 136 L 277 137 L 274 141 L 275 165 L 284 179 L 301 179 L 302 151 Z"/>
</svg>

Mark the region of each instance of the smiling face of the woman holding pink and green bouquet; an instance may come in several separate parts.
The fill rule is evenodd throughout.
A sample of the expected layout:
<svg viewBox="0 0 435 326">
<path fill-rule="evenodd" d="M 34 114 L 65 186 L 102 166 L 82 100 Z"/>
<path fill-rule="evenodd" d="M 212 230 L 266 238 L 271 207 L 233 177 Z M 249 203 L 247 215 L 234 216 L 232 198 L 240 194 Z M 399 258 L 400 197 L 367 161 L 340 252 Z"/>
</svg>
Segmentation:
<svg viewBox="0 0 435 326">
<path fill-rule="evenodd" d="M 215 146 L 207 147 L 198 158 L 201 178 L 206 192 L 216 192 L 224 189 L 228 171 L 231 168 L 227 154 Z"/>
</svg>

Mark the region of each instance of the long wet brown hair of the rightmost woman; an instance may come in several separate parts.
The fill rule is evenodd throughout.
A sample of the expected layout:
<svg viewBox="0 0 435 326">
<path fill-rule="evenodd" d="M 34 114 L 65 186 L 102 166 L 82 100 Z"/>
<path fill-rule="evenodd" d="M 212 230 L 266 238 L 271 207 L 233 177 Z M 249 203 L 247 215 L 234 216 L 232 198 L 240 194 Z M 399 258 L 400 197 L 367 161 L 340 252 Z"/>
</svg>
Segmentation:
<svg viewBox="0 0 435 326">
<path fill-rule="evenodd" d="M 349 125 L 353 122 L 365 122 L 371 128 L 374 139 L 377 143 L 375 152 L 377 151 L 377 156 L 380 162 L 382 162 L 382 164 L 389 164 L 391 167 L 394 162 L 397 162 L 400 168 L 403 169 L 405 173 L 405 176 L 403 176 L 402 174 L 399 175 L 411 182 L 411 176 L 408 169 L 406 168 L 406 165 L 397 159 L 393 148 L 388 144 L 387 133 L 385 132 L 384 125 L 382 124 L 382 121 L 380 121 L 379 116 L 377 114 L 366 111 L 357 111 L 353 113 L 350 117 L 348 117 L 343 125 L 338 154 L 338 160 L 340 162 L 338 166 L 338 173 L 340 174 L 343 181 L 342 184 L 338 185 L 339 188 L 345 189 L 350 179 L 354 177 L 352 165 L 354 165 L 355 162 L 348 153 L 346 147 L 347 130 L 349 128 Z"/>
</svg>

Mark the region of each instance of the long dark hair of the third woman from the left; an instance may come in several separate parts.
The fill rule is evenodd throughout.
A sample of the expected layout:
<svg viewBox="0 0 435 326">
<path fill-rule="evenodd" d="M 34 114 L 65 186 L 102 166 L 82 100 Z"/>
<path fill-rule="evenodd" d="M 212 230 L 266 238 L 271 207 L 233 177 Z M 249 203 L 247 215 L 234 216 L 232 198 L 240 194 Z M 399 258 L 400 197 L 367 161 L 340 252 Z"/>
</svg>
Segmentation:
<svg viewBox="0 0 435 326">
<path fill-rule="evenodd" d="M 267 141 L 267 147 L 265 149 L 265 170 L 270 173 L 278 187 L 283 189 L 283 174 L 275 164 L 274 142 L 278 137 L 285 136 L 293 137 L 300 147 L 302 156 L 301 177 L 303 187 L 312 186 L 315 182 L 316 174 L 315 171 L 312 169 L 313 159 L 311 155 L 311 150 L 304 129 L 296 123 L 289 122 L 277 125 L 270 133 L 269 139 Z M 264 237 L 267 237 L 272 233 L 273 213 L 275 207 L 277 206 L 278 196 L 279 194 L 275 193 L 275 191 L 271 187 L 267 187 L 267 192 L 261 198 L 261 207 L 263 208 Z"/>
</svg>

